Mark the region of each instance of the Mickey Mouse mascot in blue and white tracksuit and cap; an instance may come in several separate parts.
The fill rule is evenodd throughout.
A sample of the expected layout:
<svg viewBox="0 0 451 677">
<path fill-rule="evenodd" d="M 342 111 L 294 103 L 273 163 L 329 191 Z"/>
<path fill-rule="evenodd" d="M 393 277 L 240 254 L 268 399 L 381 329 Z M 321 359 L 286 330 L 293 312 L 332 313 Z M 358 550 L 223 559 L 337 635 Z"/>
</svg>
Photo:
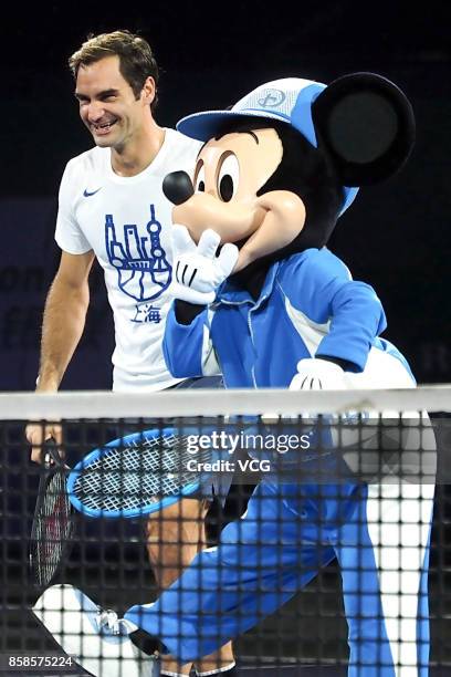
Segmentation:
<svg viewBox="0 0 451 677">
<path fill-rule="evenodd" d="M 374 290 L 326 249 L 358 187 L 389 177 L 410 153 L 415 123 L 402 92 L 371 73 L 328 86 L 284 79 L 178 128 L 204 145 L 192 179 L 177 171 L 164 185 L 178 223 L 164 343 L 174 376 L 219 368 L 229 388 L 415 387 L 405 357 L 379 337 L 386 320 Z M 426 677 L 433 487 L 297 490 L 292 499 L 261 481 L 221 544 L 156 603 L 113 614 L 109 625 L 98 612 L 98 650 L 114 627 L 122 650 L 145 631 L 181 664 L 208 655 L 337 558 L 349 677 Z M 35 614 L 69 650 L 61 619 L 45 622 L 53 590 Z M 96 608 L 71 586 L 57 592 L 74 611 Z"/>
</svg>

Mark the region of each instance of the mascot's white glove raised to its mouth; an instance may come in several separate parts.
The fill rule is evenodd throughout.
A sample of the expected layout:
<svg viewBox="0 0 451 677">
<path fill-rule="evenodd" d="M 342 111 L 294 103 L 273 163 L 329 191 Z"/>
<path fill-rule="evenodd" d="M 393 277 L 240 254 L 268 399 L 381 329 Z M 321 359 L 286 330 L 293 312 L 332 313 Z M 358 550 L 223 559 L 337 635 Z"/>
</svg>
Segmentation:
<svg viewBox="0 0 451 677">
<path fill-rule="evenodd" d="M 171 233 L 172 295 L 198 305 L 212 303 L 218 287 L 230 275 L 237 263 L 238 247 L 227 243 L 217 257 L 221 238 L 214 230 L 204 230 L 198 244 L 185 226 L 172 226 Z"/>
</svg>

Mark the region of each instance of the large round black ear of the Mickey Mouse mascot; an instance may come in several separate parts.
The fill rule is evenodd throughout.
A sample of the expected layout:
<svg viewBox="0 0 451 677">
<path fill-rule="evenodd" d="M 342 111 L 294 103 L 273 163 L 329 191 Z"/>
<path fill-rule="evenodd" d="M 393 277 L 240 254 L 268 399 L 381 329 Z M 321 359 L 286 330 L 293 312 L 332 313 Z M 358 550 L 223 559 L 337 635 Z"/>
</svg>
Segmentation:
<svg viewBox="0 0 451 677">
<path fill-rule="evenodd" d="M 415 142 L 415 117 L 405 94 L 374 73 L 331 83 L 312 106 L 319 144 L 344 186 L 368 186 L 395 174 Z"/>
</svg>

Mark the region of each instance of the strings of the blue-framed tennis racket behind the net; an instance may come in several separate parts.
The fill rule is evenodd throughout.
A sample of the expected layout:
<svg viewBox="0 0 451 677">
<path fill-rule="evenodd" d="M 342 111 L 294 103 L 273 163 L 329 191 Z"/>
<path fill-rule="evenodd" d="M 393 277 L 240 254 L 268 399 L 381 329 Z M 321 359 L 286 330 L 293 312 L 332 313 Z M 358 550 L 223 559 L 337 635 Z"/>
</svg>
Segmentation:
<svg viewBox="0 0 451 677">
<path fill-rule="evenodd" d="M 90 509 L 135 510 L 177 496 L 181 487 L 199 480 L 199 471 L 188 470 L 192 460 L 187 437 L 167 435 L 124 440 L 119 447 L 105 448 L 82 468 L 73 493 Z M 211 458 L 211 449 L 201 449 L 196 461 Z"/>
</svg>

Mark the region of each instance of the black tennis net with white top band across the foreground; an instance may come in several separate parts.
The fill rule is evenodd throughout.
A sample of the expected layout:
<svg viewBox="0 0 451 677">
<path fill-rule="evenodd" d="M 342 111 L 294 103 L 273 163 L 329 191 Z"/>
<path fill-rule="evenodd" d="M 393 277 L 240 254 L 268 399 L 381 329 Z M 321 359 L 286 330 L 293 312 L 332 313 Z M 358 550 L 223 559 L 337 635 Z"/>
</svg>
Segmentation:
<svg viewBox="0 0 451 677">
<path fill-rule="evenodd" d="M 30 462 L 27 425 L 65 467 Z M 248 675 L 451 674 L 451 386 L 4 393 L 0 431 L 0 671 L 144 676 L 169 665 L 149 646 L 189 668 L 233 639 Z M 128 622 L 117 655 L 95 605 Z"/>
</svg>

